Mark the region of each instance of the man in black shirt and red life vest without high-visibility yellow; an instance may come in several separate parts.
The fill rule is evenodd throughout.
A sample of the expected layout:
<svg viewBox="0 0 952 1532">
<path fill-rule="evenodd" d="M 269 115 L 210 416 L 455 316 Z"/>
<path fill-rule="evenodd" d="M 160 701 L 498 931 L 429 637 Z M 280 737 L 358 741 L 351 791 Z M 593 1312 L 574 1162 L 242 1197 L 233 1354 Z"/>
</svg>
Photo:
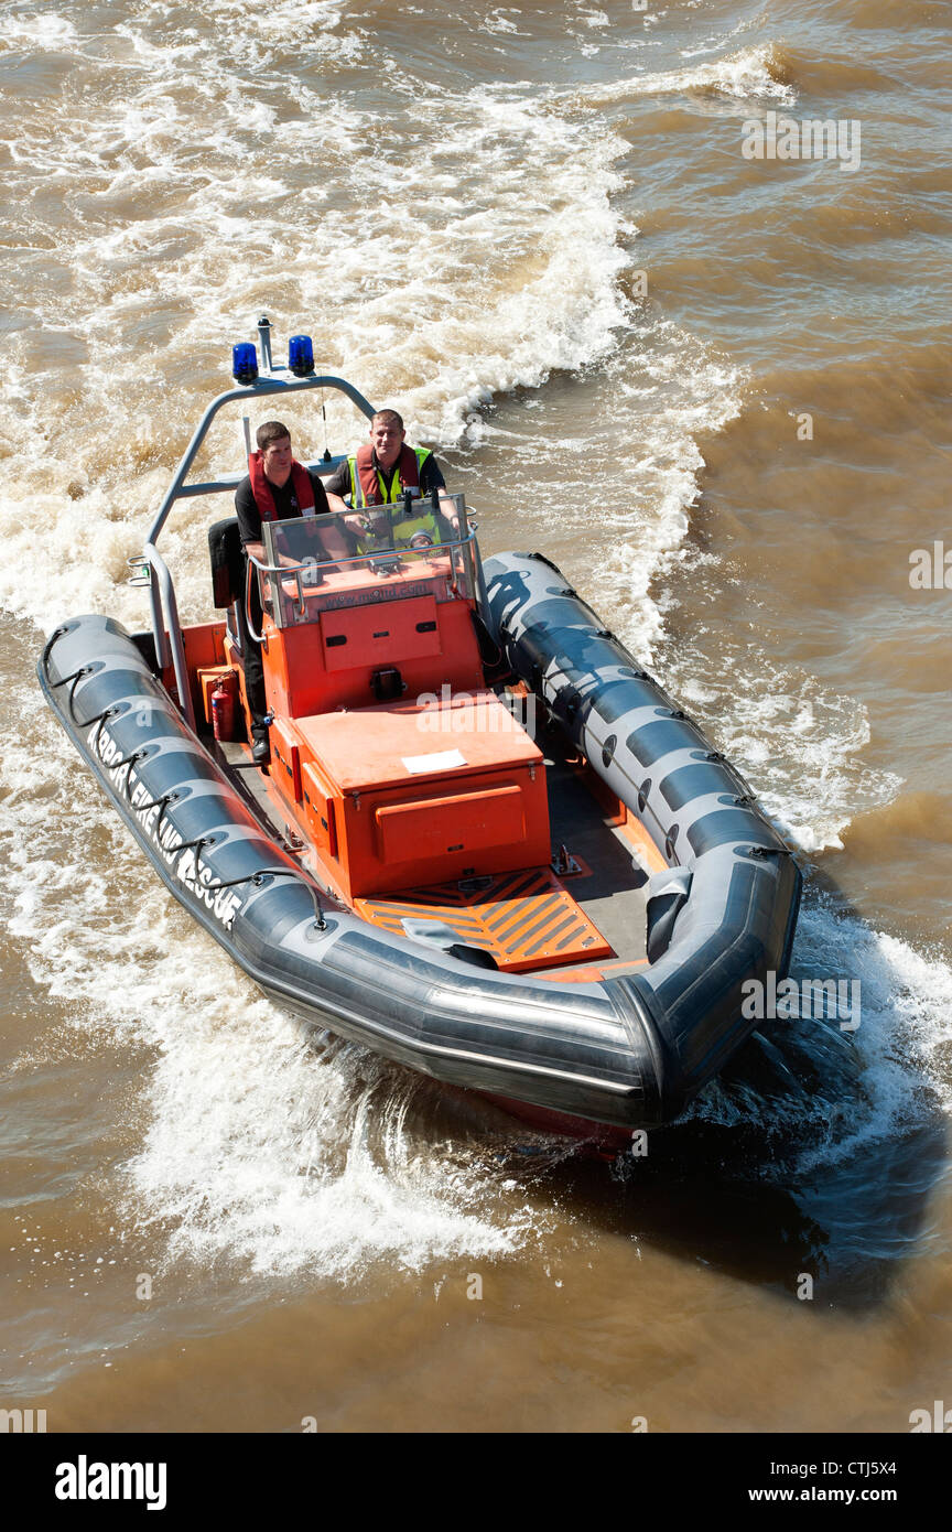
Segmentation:
<svg viewBox="0 0 952 1532">
<path fill-rule="evenodd" d="M 329 512 L 324 486 L 291 452 L 291 432 L 280 420 L 259 426 L 257 452 L 248 460 L 249 473 L 234 492 L 234 509 L 245 553 L 265 562 L 262 521 L 289 521 L 294 516 L 320 516 Z M 341 529 L 331 522 L 323 533 L 324 553 L 329 559 L 347 558 L 349 548 Z M 268 711 L 265 699 L 265 674 L 260 645 L 251 637 L 245 619 L 245 602 L 239 602 L 242 624 L 242 648 L 245 654 L 245 691 L 251 708 L 251 758 L 263 766 L 271 758 L 268 743 Z M 251 620 L 260 633 L 262 607 L 257 581 L 251 582 Z"/>
</svg>

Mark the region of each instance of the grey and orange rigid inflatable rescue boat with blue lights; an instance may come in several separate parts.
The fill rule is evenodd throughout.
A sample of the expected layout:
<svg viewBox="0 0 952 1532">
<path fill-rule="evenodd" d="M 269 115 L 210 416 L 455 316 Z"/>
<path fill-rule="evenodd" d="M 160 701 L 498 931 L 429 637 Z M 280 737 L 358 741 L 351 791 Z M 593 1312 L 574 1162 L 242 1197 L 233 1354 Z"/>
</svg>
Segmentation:
<svg viewBox="0 0 952 1532">
<path fill-rule="evenodd" d="M 335 561 L 328 516 L 266 524 L 262 561 L 219 521 L 217 620 L 182 627 L 158 542 L 182 498 L 234 492 L 240 475 L 188 483 L 219 409 L 338 389 L 372 415 L 306 360 L 274 366 L 260 336 L 265 371 L 208 408 L 130 561 L 152 631 L 64 620 L 38 665 L 49 705 L 167 887 L 274 1002 L 554 1131 L 677 1118 L 755 1026 L 742 985 L 787 973 L 788 847 L 554 564 L 482 562 L 462 496 L 422 545 L 398 536 L 409 498 L 373 536 L 337 518 L 354 553 Z M 253 579 L 265 768 L 245 743 Z M 231 740 L 213 732 L 225 683 Z"/>
</svg>

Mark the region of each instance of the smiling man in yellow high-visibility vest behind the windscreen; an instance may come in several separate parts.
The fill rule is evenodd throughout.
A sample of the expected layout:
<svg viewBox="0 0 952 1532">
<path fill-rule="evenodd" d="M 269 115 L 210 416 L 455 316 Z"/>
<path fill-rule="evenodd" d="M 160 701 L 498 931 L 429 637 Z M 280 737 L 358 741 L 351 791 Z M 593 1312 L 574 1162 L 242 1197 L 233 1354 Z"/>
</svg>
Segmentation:
<svg viewBox="0 0 952 1532">
<path fill-rule="evenodd" d="M 347 495 L 354 510 L 369 512 L 360 527 L 357 518 L 347 518 L 358 538 L 358 553 L 370 553 L 375 545 L 424 548 L 442 542 L 445 529 L 439 524 L 441 518 L 448 522 L 452 535 L 458 532 L 453 501 L 439 495 L 439 516 L 430 504 L 433 490 L 445 490 L 436 458 L 425 447 L 407 446 L 403 418 L 395 409 L 380 409 L 373 415 L 369 444 L 341 463 L 324 480 L 324 489 L 331 510 L 347 510 L 343 498 Z M 407 490 L 419 502 L 412 506 L 412 515 L 390 512 L 386 518 L 380 513 L 373 516 L 372 507 L 403 504 Z"/>
</svg>

